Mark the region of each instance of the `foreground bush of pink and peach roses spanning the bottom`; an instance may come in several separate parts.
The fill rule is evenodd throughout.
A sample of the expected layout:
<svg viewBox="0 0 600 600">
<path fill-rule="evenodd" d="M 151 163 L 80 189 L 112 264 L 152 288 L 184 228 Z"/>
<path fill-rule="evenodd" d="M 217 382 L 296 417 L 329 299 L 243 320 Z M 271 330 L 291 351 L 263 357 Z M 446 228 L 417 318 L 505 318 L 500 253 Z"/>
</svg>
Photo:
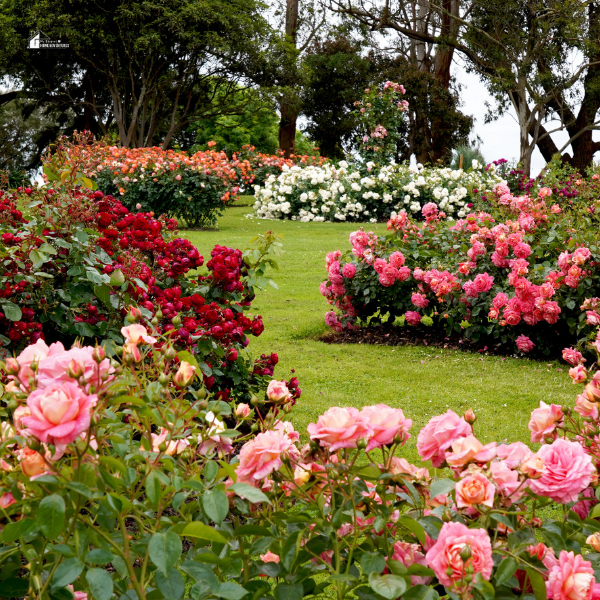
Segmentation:
<svg viewBox="0 0 600 600">
<path fill-rule="evenodd" d="M 448 411 L 418 434 L 419 467 L 402 456 L 412 422 L 398 408 L 330 408 L 304 443 L 284 420 L 291 382 L 235 406 L 206 390 L 172 334 L 132 326 L 139 355 L 40 341 L 3 367 L 2 595 L 600 593 L 598 371 L 573 373 L 574 408 L 534 411 L 539 449 L 484 444 L 473 411 Z M 430 472 L 433 457 L 444 471 Z"/>
</svg>

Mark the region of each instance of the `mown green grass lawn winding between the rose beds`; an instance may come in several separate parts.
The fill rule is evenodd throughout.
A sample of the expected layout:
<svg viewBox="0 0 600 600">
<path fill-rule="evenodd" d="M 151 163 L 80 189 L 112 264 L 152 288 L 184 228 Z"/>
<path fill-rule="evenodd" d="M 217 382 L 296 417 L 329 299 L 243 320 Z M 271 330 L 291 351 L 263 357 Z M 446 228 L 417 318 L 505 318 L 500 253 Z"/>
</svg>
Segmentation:
<svg viewBox="0 0 600 600">
<path fill-rule="evenodd" d="M 480 356 L 427 347 L 328 345 L 318 341 L 327 330 L 328 310 L 319 294 L 325 275 L 325 255 L 348 248 L 352 223 L 297 223 L 246 218 L 249 207 L 231 207 L 218 231 L 188 231 L 186 235 L 207 257 L 215 244 L 245 248 L 258 233 L 271 229 L 283 236 L 285 254 L 274 274 L 279 290 L 260 293 L 252 307 L 261 314 L 265 331 L 252 338 L 254 356 L 277 352 L 275 376 L 296 370 L 302 398 L 293 421 L 299 431 L 330 406 L 361 406 L 383 402 L 413 419 L 407 458 L 417 460 L 414 443 L 427 420 L 448 408 L 462 413 L 471 407 L 479 420 L 482 441 L 529 441 L 527 423 L 540 400 L 572 404 L 576 389 L 566 365 L 548 366 L 523 359 Z M 369 225 L 376 232 L 384 224 Z M 558 369 L 562 369 L 559 371 Z"/>
</svg>

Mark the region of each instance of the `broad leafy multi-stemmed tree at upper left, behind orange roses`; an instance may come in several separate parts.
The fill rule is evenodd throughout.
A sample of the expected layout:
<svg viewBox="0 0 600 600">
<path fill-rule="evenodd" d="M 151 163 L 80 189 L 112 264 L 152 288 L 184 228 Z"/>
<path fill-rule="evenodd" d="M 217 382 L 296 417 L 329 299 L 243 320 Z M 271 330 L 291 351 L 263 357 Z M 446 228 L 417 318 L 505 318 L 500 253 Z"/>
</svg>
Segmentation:
<svg viewBox="0 0 600 600">
<path fill-rule="evenodd" d="M 0 29 L 4 73 L 27 99 L 69 107 L 121 145 L 167 147 L 198 118 L 243 112 L 281 55 L 257 0 L 16 0 Z M 69 44 L 28 50 L 30 30 Z"/>
</svg>

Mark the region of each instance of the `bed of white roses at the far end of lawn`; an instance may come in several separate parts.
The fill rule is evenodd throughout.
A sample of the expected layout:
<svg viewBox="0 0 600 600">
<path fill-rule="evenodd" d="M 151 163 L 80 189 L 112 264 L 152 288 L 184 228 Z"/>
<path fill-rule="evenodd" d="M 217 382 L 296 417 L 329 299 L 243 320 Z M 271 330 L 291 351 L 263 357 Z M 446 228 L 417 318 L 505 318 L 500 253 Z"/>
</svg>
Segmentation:
<svg viewBox="0 0 600 600">
<path fill-rule="evenodd" d="M 361 173 L 346 161 L 307 167 L 284 166 L 255 187 L 255 215 L 294 221 L 369 221 L 387 219 L 406 209 L 417 213 L 434 202 L 449 218 L 462 218 L 478 192 L 491 192 L 502 179 L 493 165 L 485 171 L 473 161 L 471 169 L 372 163 Z M 365 175 L 366 172 L 366 175 Z"/>
</svg>

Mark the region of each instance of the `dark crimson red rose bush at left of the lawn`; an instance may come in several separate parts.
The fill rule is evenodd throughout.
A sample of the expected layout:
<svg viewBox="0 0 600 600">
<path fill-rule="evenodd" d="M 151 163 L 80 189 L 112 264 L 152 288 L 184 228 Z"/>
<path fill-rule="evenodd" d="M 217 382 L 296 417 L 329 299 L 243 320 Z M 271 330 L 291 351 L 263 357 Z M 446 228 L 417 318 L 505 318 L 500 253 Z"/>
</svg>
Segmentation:
<svg viewBox="0 0 600 600">
<path fill-rule="evenodd" d="M 109 354 L 127 340 L 130 306 L 142 324 L 173 332 L 199 361 L 205 384 L 249 402 L 264 389 L 277 356 L 252 361 L 246 347 L 264 326 L 249 311 L 275 264 L 280 242 L 259 236 L 245 252 L 215 246 L 205 269 L 176 221 L 131 213 L 112 196 L 73 187 L 4 193 L 0 200 L 0 342 L 4 352 L 45 339 L 102 341 Z M 25 219 L 17 204 L 27 211 Z M 275 285 L 273 282 L 271 282 Z"/>
</svg>

